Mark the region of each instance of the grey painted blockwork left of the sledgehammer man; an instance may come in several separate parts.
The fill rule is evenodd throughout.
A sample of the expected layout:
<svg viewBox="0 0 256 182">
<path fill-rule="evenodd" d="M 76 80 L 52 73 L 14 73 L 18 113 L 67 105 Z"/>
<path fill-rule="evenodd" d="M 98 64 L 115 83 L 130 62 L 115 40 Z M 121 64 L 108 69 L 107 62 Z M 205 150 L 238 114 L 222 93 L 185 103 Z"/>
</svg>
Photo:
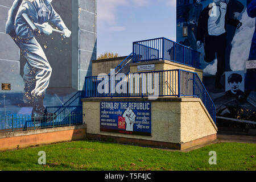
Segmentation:
<svg viewBox="0 0 256 182">
<path fill-rule="evenodd" d="M 11 84 L 11 91 L 22 92 L 24 82 L 20 76 L 20 53 L 10 35 L 5 34 L 5 23 L 13 0 L 0 0 L 0 87 L 2 83 Z"/>
</svg>

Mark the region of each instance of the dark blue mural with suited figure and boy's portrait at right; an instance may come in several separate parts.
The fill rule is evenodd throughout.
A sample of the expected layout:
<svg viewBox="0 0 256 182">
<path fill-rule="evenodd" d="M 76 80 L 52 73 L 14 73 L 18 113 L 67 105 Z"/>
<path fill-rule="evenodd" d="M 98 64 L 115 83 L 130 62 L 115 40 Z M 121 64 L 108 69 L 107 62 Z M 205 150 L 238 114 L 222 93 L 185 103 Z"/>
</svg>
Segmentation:
<svg viewBox="0 0 256 182">
<path fill-rule="evenodd" d="M 177 0 L 177 42 L 201 52 L 219 117 L 256 121 L 255 16 L 256 0 Z"/>
</svg>

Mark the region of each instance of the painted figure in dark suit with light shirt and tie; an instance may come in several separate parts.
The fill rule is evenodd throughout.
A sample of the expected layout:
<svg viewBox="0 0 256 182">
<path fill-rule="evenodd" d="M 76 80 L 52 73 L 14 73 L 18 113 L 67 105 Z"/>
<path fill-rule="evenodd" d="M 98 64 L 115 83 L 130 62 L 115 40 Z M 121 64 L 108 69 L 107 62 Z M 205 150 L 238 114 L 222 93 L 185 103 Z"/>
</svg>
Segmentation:
<svg viewBox="0 0 256 182">
<path fill-rule="evenodd" d="M 217 54 L 218 63 L 214 84 L 217 89 L 224 88 L 220 80 L 225 71 L 226 24 L 235 27 L 239 25 L 239 21 L 229 18 L 227 2 L 213 0 L 213 3 L 210 3 L 201 12 L 197 22 L 197 47 L 200 48 L 204 43 L 204 60 L 210 63 L 216 59 Z"/>
</svg>

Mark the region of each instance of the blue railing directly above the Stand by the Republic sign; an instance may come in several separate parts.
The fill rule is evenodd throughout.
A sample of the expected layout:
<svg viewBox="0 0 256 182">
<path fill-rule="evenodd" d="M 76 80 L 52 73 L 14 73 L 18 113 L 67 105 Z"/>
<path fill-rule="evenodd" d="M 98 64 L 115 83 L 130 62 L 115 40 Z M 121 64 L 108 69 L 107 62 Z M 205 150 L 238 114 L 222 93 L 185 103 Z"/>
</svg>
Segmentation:
<svg viewBox="0 0 256 182">
<path fill-rule="evenodd" d="M 123 81 L 122 86 L 120 81 Z M 197 97 L 216 122 L 216 107 L 197 73 L 180 69 L 85 77 L 85 98 Z"/>
</svg>

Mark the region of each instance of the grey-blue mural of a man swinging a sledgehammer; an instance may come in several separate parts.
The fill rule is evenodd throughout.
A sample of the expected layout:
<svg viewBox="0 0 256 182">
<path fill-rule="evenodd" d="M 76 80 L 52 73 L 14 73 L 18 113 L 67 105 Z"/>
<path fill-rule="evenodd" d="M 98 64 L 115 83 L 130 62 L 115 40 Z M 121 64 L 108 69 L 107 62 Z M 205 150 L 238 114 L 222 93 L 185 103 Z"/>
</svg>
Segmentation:
<svg viewBox="0 0 256 182">
<path fill-rule="evenodd" d="M 35 121 L 52 121 L 58 107 L 81 97 L 77 93 L 91 75 L 96 1 L 7 0 L 0 5 L 0 42 L 6 45 L 0 50 L 0 116 L 32 114 Z"/>
</svg>

